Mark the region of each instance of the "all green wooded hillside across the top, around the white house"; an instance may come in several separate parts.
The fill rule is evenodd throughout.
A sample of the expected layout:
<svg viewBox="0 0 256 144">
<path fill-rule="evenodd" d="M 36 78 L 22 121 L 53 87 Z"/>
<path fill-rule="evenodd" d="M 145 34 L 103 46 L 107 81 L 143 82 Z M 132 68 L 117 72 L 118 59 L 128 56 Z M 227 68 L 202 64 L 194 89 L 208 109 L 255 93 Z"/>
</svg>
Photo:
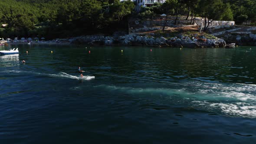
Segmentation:
<svg viewBox="0 0 256 144">
<path fill-rule="evenodd" d="M 167 0 L 135 13 L 136 3 L 120 0 L 0 0 L 1 37 L 70 37 L 127 30 L 129 17 L 156 14 L 256 21 L 255 0 Z M 208 21 L 207 23 L 210 23 Z"/>
</svg>

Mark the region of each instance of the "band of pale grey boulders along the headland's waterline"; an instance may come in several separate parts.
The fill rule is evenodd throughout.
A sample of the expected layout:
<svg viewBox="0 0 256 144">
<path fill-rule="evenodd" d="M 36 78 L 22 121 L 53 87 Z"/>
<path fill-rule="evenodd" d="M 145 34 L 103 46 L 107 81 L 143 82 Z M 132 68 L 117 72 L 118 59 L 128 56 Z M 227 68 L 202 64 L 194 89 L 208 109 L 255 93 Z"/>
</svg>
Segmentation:
<svg viewBox="0 0 256 144">
<path fill-rule="evenodd" d="M 195 34 L 192 38 L 188 36 L 176 36 L 169 39 L 154 36 L 139 36 L 137 34 L 125 36 L 79 36 L 68 39 L 72 44 L 106 45 L 106 46 L 154 46 L 154 47 L 225 47 L 223 39 L 207 39 Z"/>
</svg>

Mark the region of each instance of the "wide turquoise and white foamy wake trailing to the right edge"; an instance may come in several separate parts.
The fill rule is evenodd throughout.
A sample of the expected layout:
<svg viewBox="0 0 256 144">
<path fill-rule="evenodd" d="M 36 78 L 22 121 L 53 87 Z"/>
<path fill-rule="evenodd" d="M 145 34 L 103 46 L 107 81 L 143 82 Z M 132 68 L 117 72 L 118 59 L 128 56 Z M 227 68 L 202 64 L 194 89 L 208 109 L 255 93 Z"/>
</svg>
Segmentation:
<svg viewBox="0 0 256 144">
<path fill-rule="evenodd" d="M 193 107 L 231 117 L 256 118 L 256 85 L 188 82 L 183 88 L 132 88 L 98 85 L 95 88 Z M 193 85 L 193 88 L 191 87 Z M 200 85 L 200 86 L 199 86 Z M 198 86 L 198 87 L 197 87 Z"/>
</svg>

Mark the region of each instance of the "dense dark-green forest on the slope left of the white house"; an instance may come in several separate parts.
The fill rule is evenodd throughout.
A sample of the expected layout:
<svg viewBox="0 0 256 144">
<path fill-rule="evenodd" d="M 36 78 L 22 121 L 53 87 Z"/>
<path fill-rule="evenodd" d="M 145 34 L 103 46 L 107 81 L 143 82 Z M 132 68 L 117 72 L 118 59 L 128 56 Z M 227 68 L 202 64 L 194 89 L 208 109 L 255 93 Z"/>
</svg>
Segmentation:
<svg viewBox="0 0 256 144">
<path fill-rule="evenodd" d="M 1 36 L 56 38 L 115 31 L 134 9 L 119 0 L 0 0 Z"/>
</svg>

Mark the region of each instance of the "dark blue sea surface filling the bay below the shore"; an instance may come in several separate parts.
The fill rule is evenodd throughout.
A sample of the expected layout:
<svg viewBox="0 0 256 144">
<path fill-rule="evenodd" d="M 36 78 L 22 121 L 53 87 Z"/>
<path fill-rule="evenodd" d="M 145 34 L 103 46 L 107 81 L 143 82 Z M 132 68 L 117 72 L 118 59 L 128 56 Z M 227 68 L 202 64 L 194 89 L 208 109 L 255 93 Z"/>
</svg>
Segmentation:
<svg viewBox="0 0 256 144">
<path fill-rule="evenodd" d="M 256 143 L 256 47 L 14 47 L 0 144 Z"/>
</svg>

